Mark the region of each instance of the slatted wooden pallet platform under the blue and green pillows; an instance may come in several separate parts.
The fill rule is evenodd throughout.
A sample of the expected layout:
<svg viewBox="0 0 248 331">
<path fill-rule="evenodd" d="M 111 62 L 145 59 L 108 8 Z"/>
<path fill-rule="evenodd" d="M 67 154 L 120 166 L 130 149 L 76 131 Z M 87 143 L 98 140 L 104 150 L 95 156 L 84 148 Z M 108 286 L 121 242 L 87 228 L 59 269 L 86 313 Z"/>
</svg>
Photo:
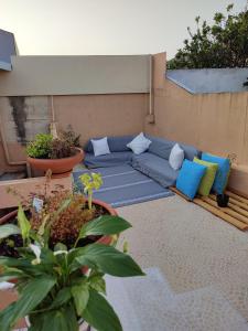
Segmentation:
<svg viewBox="0 0 248 331">
<path fill-rule="evenodd" d="M 211 194 L 209 196 L 197 196 L 194 200 L 190 200 L 175 188 L 171 188 L 171 190 L 185 200 L 192 201 L 193 203 L 202 206 L 237 228 L 241 231 L 248 229 L 248 199 L 245 196 L 226 191 L 226 194 L 229 195 L 228 207 L 219 207 L 216 202 L 216 195 L 214 194 Z"/>
</svg>

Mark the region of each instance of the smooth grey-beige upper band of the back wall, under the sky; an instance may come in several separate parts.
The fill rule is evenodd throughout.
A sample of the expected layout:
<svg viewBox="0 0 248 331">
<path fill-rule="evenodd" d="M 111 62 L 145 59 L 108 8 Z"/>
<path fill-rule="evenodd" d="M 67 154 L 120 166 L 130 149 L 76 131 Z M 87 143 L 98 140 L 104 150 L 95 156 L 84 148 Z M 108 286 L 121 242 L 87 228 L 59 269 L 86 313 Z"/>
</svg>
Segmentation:
<svg viewBox="0 0 248 331">
<path fill-rule="evenodd" d="M 150 55 L 12 56 L 0 96 L 147 93 Z"/>
</svg>

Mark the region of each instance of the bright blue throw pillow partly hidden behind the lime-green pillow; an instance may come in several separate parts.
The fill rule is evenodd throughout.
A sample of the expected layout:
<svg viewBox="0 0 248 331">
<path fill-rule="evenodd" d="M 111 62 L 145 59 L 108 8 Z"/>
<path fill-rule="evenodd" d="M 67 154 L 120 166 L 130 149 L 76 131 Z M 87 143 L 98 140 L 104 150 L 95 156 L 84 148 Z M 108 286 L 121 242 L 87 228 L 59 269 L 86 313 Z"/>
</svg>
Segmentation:
<svg viewBox="0 0 248 331">
<path fill-rule="evenodd" d="M 229 159 L 219 158 L 219 157 L 212 156 L 208 153 L 203 153 L 202 160 L 218 164 L 218 170 L 216 172 L 215 181 L 213 184 L 213 190 L 217 194 L 222 194 L 226 189 L 229 172 L 230 172 Z"/>
</svg>

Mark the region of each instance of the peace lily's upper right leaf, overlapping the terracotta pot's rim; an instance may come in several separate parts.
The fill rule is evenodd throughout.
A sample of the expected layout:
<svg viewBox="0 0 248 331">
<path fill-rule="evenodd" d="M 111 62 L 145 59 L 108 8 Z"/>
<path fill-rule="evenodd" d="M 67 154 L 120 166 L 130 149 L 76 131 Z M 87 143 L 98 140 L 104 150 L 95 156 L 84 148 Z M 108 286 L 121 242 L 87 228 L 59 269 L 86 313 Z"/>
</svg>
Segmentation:
<svg viewBox="0 0 248 331">
<path fill-rule="evenodd" d="M 100 216 L 86 223 L 79 233 L 79 238 L 89 235 L 114 235 L 131 227 L 131 224 L 119 216 Z"/>
</svg>

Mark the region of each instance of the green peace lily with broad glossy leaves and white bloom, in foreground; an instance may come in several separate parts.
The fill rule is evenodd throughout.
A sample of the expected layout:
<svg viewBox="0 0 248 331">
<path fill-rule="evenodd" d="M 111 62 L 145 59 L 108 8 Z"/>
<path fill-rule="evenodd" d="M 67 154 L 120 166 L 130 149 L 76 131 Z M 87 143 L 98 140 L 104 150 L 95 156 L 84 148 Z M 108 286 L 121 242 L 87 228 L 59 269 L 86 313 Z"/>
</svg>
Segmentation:
<svg viewBox="0 0 248 331">
<path fill-rule="evenodd" d="M 21 206 L 19 218 L 23 218 Z M 0 281 L 15 279 L 19 291 L 19 299 L 0 312 L 0 330 L 11 331 L 25 316 L 30 319 L 30 331 L 78 331 L 80 318 L 98 331 L 122 330 L 106 299 L 104 275 L 144 275 L 134 260 L 112 246 L 97 243 L 72 249 L 58 243 L 52 250 L 45 245 L 45 231 L 33 244 L 29 243 L 30 227 L 25 221 L 19 222 L 25 243 L 19 249 L 21 257 L 0 257 Z M 82 227 L 76 242 L 93 234 L 116 235 L 130 226 L 121 217 L 100 216 Z M 88 268 L 87 273 L 82 273 L 83 267 Z"/>
</svg>

